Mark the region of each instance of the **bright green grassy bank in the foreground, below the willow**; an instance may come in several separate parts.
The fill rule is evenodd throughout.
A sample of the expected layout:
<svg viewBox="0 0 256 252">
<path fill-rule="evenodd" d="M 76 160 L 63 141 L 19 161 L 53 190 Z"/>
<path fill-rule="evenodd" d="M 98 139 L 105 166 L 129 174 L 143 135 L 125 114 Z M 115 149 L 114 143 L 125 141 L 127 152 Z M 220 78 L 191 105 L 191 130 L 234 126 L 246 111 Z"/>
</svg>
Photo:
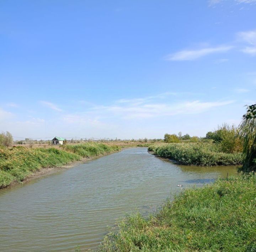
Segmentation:
<svg viewBox="0 0 256 252">
<path fill-rule="evenodd" d="M 187 189 L 155 215 L 123 219 L 100 251 L 256 251 L 256 176 Z"/>
</svg>

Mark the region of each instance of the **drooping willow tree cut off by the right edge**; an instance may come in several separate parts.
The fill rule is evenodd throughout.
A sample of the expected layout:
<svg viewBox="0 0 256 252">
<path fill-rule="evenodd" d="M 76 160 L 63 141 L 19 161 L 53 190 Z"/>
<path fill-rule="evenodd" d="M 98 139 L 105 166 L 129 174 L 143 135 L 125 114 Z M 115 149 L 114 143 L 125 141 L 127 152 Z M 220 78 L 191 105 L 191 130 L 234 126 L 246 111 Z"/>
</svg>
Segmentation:
<svg viewBox="0 0 256 252">
<path fill-rule="evenodd" d="M 256 171 L 256 104 L 247 107 L 240 124 L 240 134 L 244 140 L 245 155 L 242 171 Z"/>
</svg>

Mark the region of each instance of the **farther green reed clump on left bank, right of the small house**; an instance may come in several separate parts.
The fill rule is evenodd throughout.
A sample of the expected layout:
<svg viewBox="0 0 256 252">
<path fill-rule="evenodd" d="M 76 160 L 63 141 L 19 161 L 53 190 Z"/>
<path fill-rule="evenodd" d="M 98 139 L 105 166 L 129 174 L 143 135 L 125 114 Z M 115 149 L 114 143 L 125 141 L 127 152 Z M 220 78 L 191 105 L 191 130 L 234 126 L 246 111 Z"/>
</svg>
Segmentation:
<svg viewBox="0 0 256 252">
<path fill-rule="evenodd" d="M 103 143 L 81 143 L 74 145 L 64 145 L 63 149 L 86 158 L 117 152 L 121 150 L 121 147 L 116 145 L 108 146 Z"/>
</svg>

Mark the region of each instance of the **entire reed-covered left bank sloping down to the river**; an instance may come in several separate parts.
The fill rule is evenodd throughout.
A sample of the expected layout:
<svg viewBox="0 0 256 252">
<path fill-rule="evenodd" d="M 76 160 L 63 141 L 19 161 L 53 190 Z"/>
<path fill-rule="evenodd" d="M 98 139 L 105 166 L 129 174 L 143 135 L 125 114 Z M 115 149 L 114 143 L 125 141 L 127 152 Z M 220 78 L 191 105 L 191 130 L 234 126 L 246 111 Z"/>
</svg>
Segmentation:
<svg viewBox="0 0 256 252">
<path fill-rule="evenodd" d="M 0 188 L 13 182 L 23 181 L 43 168 L 59 167 L 82 158 L 94 158 L 119 151 L 118 146 L 101 143 L 85 143 L 55 148 L 25 147 L 6 148 L 0 146 Z"/>
</svg>

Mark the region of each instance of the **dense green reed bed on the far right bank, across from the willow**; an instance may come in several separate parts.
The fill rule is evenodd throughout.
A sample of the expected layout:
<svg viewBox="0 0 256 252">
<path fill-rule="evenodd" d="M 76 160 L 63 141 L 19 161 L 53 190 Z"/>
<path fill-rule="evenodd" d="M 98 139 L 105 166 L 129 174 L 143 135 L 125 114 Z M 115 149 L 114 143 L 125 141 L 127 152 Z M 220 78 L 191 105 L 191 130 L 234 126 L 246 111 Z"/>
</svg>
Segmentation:
<svg viewBox="0 0 256 252">
<path fill-rule="evenodd" d="M 185 165 L 240 165 L 243 161 L 241 153 L 220 152 L 213 143 L 169 143 L 152 145 L 148 150 Z"/>
</svg>

